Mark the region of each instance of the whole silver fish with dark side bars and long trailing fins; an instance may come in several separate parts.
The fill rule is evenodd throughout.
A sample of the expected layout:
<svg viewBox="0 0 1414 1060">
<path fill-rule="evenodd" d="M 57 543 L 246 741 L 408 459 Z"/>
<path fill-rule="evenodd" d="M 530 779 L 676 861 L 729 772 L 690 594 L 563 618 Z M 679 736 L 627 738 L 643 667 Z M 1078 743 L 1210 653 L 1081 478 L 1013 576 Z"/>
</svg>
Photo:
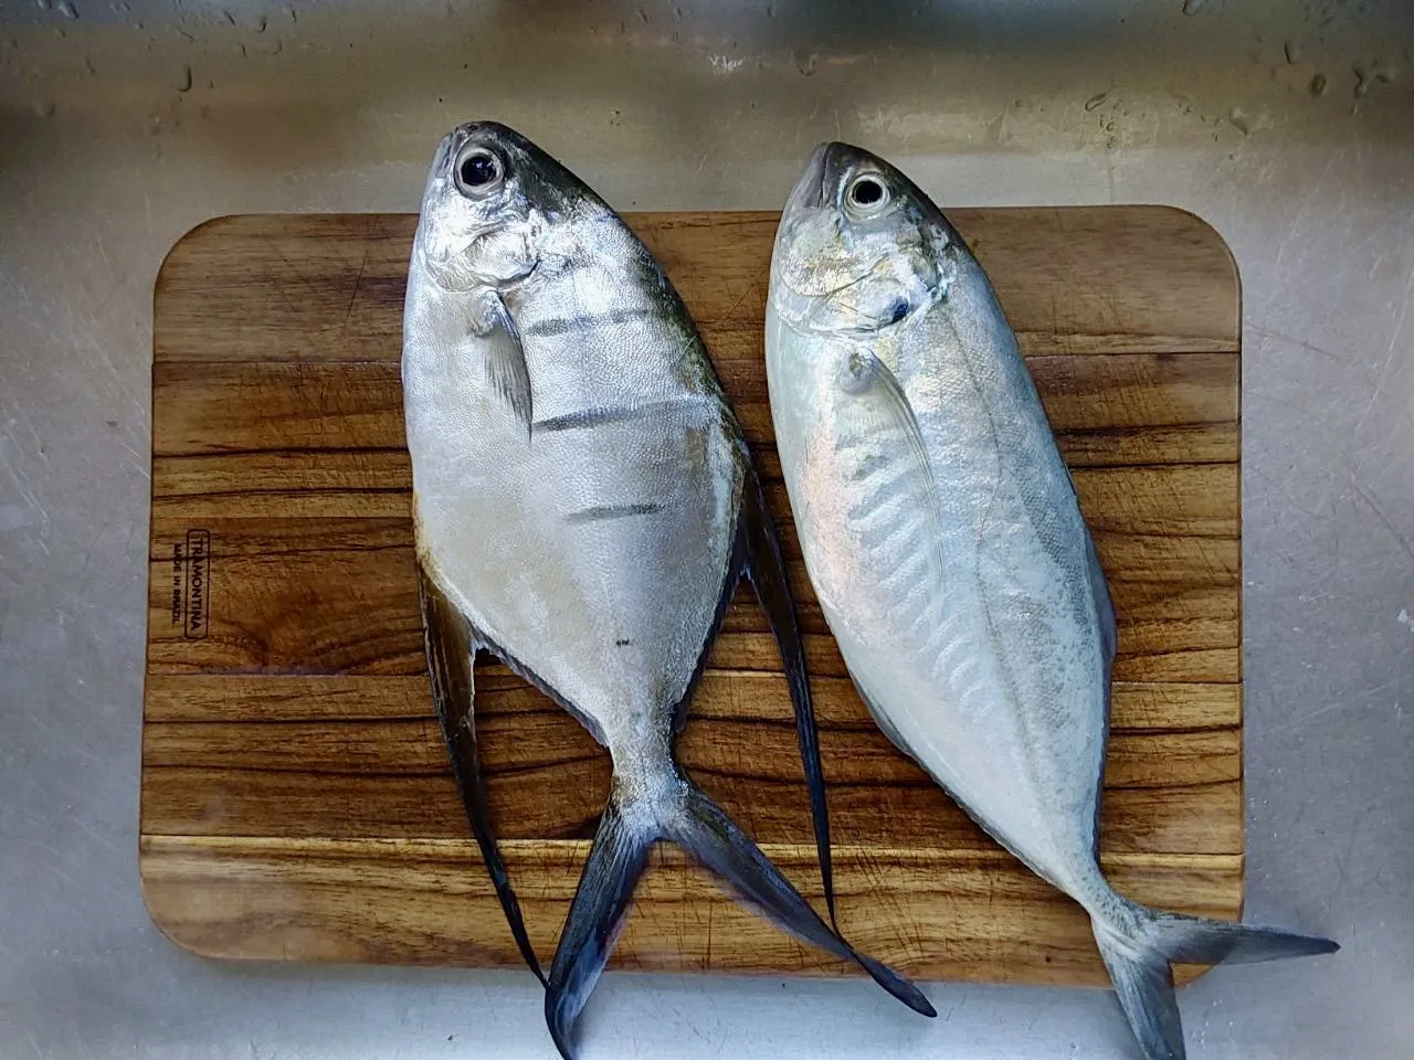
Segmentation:
<svg viewBox="0 0 1414 1060">
<path fill-rule="evenodd" d="M 686 848 L 792 934 L 911 1008 L 683 772 L 673 742 L 740 578 L 781 650 L 836 921 L 805 650 L 745 438 L 662 267 L 580 178 L 520 133 L 472 122 L 437 147 L 409 264 L 402 376 L 433 698 L 472 831 L 560 1053 L 658 840 Z M 499 852 L 477 743 L 486 652 L 612 760 L 549 974 Z"/>
</svg>

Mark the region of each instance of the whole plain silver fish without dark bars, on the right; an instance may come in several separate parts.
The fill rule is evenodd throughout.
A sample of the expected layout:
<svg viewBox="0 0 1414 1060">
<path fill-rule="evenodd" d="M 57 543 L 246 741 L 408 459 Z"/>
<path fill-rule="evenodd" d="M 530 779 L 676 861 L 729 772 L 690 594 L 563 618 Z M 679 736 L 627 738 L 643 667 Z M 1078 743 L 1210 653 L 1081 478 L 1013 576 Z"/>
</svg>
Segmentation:
<svg viewBox="0 0 1414 1060">
<path fill-rule="evenodd" d="M 1171 961 L 1335 951 L 1104 879 L 1114 605 L 1015 334 L 937 205 L 860 147 L 817 147 L 778 225 L 765 335 L 806 571 L 860 697 L 1089 913 L 1144 1056 L 1184 1056 Z"/>
</svg>

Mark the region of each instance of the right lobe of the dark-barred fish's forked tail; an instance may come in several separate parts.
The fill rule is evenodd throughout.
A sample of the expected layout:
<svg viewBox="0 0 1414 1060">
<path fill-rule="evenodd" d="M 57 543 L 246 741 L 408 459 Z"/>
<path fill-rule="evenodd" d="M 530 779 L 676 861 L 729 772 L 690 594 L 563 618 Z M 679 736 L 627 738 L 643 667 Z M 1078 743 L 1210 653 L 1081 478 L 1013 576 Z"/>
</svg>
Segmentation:
<svg viewBox="0 0 1414 1060">
<path fill-rule="evenodd" d="M 936 1016 L 928 998 L 892 968 L 861 954 L 830 930 L 761 848 L 717 806 L 706 791 L 686 783 L 680 811 L 665 821 L 665 838 L 682 844 L 703 865 L 768 920 L 797 938 L 836 957 L 854 961 L 870 978 L 915 1012 Z"/>
</svg>

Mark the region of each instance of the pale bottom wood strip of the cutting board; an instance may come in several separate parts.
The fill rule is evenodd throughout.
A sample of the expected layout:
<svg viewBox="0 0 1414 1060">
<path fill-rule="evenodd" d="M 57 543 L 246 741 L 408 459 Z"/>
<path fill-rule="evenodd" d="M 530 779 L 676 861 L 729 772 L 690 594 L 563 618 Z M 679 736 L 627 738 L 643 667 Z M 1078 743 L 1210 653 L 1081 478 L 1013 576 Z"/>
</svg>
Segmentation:
<svg viewBox="0 0 1414 1060">
<path fill-rule="evenodd" d="M 544 962 L 588 845 L 505 844 L 510 876 L 534 881 L 522 888 L 522 909 Z M 806 897 L 823 903 L 813 847 L 764 849 Z M 141 859 L 144 897 L 167 913 L 163 930 L 209 957 L 232 955 L 229 934 L 239 926 L 239 955 L 252 960 L 520 962 L 468 840 L 148 835 Z M 889 953 L 906 975 L 1107 984 L 1086 914 L 1004 852 L 837 845 L 834 859 L 841 929 L 860 948 Z M 1111 855 L 1104 868 L 1135 900 L 1195 916 L 1240 914 L 1237 855 Z M 222 909 L 219 920 L 211 902 Z M 724 964 L 724 947 L 748 950 L 756 962 Z M 725 900 L 700 869 L 665 848 L 653 854 L 615 957 L 617 967 L 638 971 L 857 974 Z M 1178 975 L 1192 977 L 1192 970 Z"/>
</svg>

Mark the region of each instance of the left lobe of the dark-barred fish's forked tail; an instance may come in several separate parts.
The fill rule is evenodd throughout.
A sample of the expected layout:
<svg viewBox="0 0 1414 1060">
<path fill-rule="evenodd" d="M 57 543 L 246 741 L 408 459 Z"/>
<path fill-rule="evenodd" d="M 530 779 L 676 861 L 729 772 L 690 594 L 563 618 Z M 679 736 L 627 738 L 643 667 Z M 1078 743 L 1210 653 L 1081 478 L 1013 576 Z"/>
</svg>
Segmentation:
<svg viewBox="0 0 1414 1060">
<path fill-rule="evenodd" d="M 625 820 L 617 790 L 609 794 L 546 985 L 544 1020 L 564 1060 L 574 1060 L 574 1023 L 614 953 L 656 838 Z"/>
</svg>

